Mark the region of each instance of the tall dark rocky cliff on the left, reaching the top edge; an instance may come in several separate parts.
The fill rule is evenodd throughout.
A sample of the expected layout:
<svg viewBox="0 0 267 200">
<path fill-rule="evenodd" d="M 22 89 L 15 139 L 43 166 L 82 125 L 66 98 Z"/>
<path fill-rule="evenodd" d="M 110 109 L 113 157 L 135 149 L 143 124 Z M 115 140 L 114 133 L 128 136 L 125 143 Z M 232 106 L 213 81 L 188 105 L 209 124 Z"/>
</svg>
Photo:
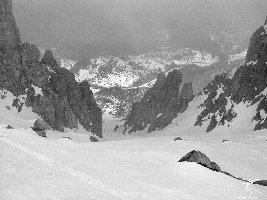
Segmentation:
<svg viewBox="0 0 267 200">
<path fill-rule="evenodd" d="M 102 136 L 102 114 L 88 82 L 80 84 L 72 72 L 61 68 L 50 50 L 40 52 L 29 42 L 21 43 L 12 14 L 12 2 L 1 1 L 1 88 L 16 97 L 25 95 L 25 105 L 58 131 L 64 127 L 87 130 Z M 17 99 L 14 106 L 21 108 Z"/>
</svg>

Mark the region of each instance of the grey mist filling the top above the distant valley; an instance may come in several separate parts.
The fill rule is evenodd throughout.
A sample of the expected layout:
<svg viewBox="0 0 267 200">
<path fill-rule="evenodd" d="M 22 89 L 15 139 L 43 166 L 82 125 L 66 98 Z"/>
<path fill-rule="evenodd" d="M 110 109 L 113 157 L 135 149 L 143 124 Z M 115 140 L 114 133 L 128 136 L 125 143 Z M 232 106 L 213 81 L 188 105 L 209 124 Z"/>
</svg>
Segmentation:
<svg viewBox="0 0 267 200">
<path fill-rule="evenodd" d="M 196 26 L 259 27 L 266 1 L 13 1 L 13 14 L 23 42 L 137 54 L 160 47 L 166 29 L 164 45 L 179 46 Z"/>
</svg>

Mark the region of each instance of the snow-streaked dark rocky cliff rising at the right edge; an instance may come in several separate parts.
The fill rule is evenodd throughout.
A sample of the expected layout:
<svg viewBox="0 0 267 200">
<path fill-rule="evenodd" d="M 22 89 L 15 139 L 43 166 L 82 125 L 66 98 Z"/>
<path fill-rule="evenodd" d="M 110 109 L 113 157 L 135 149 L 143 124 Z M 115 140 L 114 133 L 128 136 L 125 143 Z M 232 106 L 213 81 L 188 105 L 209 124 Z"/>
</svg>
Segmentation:
<svg viewBox="0 0 267 200">
<path fill-rule="evenodd" d="M 205 109 L 197 117 L 196 125 L 210 119 L 207 132 L 218 125 L 231 122 L 237 113 L 233 108 L 241 102 L 252 106 L 260 102 L 251 120 L 259 121 L 255 130 L 266 128 L 266 20 L 264 26 L 252 34 L 247 50 L 245 64 L 238 68 L 233 77 L 226 74 L 215 76 L 214 80 L 201 91 L 208 94 Z M 222 88 L 222 90 L 219 88 Z"/>
</svg>

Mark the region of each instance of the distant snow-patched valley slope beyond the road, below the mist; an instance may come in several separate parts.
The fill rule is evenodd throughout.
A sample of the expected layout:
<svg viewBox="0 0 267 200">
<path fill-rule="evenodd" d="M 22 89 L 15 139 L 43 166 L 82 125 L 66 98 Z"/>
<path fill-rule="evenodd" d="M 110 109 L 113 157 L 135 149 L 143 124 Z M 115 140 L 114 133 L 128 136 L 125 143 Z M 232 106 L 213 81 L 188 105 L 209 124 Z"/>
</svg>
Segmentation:
<svg viewBox="0 0 267 200">
<path fill-rule="evenodd" d="M 176 68 L 183 73 L 182 85 L 192 82 L 194 91 L 198 93 L 212 81 L 215 74 L 233 75 L 244 63 L 246 52 L 231 55 L 227 61 L 221 62 L 218 56 L 212 58 L 205 51 L 164 48 L 138 56 L 100 56 L 83 63 L 64 58 L 61 67 L 71 70 L 78 82 L 88 81 L 103 87 L 142 87 L 152 80 L 156 81 L 158 73 Z"/>
</svg>

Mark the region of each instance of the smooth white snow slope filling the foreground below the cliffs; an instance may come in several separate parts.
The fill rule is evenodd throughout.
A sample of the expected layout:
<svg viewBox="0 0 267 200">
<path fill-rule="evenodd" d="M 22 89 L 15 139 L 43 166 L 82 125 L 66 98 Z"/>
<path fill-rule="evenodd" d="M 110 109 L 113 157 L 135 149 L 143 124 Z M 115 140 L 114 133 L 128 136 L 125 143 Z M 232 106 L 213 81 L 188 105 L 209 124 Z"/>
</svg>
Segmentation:
<svg viewBox="0 0 267 200">
<path fill-rule="evenodd" d="M 3 92 L 3 91 L 1 91 Z M 6 91 L 5 91 L 6 92 Z M 193 124 L 205 95 L 196 97 L 165 129 L 122 134 L 123 122 L 103 115 L 103 136 L 90 142 L 82 128 L 38 136 L 38 115 L 17 113 L 7 92 L 1 99 L 1 199 L 234 199 L 266 197 L 266 187 L 246 184 L 194 162 L 177 162 L 191 150 L 205 153 L 223 171 L 245 180 L 266 180 L 266 130 L 252 131 L 254 113 L 206 133 Z M 10 106 L 11 110 L 5 106 Z M 246 104 L 236 107 L 239 114 Z M 257 104 L 253 105 L 257 106 Z M 249 107 L 251 110 L 255 109 Z M 8 124 L 14 129 L 4 129 Z M 85 131 L 85 132 L 84 132 Z M 161 137 L 161 135 L 164 135 Z M 73 140 L 61 139 L 69 136 Z M 175 137 L 186 141 L 173 141 Z M 221 143 L 223 139 L 234 142 Z"/>
</svg>

